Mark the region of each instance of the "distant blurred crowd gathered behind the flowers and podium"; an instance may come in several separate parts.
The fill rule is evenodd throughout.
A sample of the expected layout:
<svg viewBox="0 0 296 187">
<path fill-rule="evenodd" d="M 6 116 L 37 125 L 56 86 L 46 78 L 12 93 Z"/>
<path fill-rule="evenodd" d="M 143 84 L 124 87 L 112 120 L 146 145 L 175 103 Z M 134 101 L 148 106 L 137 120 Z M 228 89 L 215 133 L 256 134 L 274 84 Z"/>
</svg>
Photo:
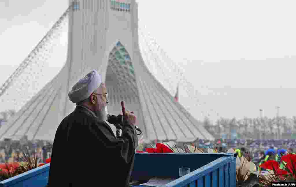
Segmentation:
<svg viewBox="0 0 296 187">
<path fill-rule="evenodd" d="M 227 152 L 230 148 L 241 149 L 242 153 L 248 154 L 255 164 L 268 159 L 276 159 L 276 154 L 296 151 L 293 150 L 296 148 L 295 139 L 216 139 L 215 141 L 199 139 L 196 145 L 204 152 L 207 152 L 208 148 L 217 149 L 218 152 Z M 150 147 L 150 144 L 145 147 Z M 178 147 L 183 147 L 183 144 Z M 21 145 L 19 141 L 9 143 L 2 141 L 0 142 L 0 162 L 15 162 L 17 154 L 22 155 L 22 151 L 28 152 L 31 156 L 37 156 L 39 162 L 45 162 L 51 157 L 52 142 L 28 141 L 25 145 Z"/>
</svg>

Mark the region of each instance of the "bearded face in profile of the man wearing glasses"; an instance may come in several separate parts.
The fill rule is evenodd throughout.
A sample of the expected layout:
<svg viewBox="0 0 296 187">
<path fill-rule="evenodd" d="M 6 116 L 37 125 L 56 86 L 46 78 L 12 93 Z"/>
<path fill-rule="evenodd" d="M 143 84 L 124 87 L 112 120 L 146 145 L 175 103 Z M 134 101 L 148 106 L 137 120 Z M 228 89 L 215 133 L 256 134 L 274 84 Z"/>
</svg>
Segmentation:
<svg viewBox="0 0 296 187">
<path fill-rule="evenodd" d="M 104 83 L 96 90 L 97 102 L 93 105 L 94 113 L 99 120 L 107 120 L 106 107 L 107 107 L 107 88 Z"/>
</svg>

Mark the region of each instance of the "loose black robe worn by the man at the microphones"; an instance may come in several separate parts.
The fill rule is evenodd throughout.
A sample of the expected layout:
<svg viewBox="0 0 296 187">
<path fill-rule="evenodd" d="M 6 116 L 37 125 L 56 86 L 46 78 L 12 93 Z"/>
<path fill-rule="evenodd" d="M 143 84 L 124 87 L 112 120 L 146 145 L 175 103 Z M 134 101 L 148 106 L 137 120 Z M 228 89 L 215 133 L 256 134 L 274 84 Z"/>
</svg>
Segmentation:
<svg viewBox="0 0 296 187">
<path fill-rule="evenodd" d="M 137 146 L 133 125 L 125 121 L 116 138 L 106 122 L 77 106 L 57 128 L 49 187 L 128 187 Z"/>
</svg>

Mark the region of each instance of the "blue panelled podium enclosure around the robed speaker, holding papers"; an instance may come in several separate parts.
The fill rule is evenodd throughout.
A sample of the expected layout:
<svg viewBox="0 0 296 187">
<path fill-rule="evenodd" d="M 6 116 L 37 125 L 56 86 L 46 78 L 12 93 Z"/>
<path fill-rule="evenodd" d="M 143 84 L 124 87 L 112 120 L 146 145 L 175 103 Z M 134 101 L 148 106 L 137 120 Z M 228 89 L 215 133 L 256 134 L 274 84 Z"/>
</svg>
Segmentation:
<svg viewBox="0 0 296 187">
<path fill-rule="evenodd" d="M 166 187 L 236 187 L 236 157 L 236 153 L 136 153 L 131 178 L 176 179 Z M 0 187 L 46 187 L 49 165 L 3 180 Z M 189 167 L 190 173 L 179 177 L 180 167 Z"/>
</svg>

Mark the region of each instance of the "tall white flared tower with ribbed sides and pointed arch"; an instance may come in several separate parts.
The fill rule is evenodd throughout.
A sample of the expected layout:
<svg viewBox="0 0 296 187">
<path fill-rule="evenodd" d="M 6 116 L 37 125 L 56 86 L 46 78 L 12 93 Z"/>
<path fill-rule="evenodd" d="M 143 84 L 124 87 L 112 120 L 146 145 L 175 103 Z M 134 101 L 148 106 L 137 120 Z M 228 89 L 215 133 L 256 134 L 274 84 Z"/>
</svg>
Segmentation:
<svg viewBox="0 0 296 187">
<path fill-rule="evenodd" d="M 139 45 L 135 0 L 71 0 L 62 17 L 66 14 L 65 66 L 1 127 L 1 140 L 24 136 L 28 140 L 53 140 L 62 119 L 75 109 L 68 91 L 91 70 L 97 70 L 106 83 L 108 113 L 121 114 L 120 101 L 125 101 L 148 140 L 213 140 L 203 124 L 175 101 L 146 67 L 144 62 L 152 59 Z"/>
</svg>

